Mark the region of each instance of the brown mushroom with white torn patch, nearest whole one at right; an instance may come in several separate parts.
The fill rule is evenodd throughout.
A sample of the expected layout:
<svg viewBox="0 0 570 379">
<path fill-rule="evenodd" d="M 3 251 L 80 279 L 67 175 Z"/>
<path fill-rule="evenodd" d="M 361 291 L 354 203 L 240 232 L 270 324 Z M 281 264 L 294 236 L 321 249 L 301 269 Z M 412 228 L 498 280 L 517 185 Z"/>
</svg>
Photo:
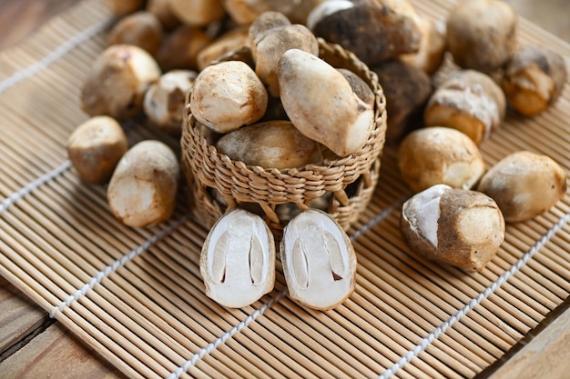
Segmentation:
<svg viewBox="0 0 570 379">
<path fill-rule="evenodd" d="M 478 272 L 503 244 L 505 224 L 486 194 L 433 185 L 402 205 L 400 230 L 417 254 Z"/>
</svg>

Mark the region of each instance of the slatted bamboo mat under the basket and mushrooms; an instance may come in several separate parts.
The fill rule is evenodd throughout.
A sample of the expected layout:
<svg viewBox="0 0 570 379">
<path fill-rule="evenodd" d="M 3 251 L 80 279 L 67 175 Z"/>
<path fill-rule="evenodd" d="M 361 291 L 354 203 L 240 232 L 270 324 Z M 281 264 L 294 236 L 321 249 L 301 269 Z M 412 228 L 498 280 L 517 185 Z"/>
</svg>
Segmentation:
<svg viewBox="0 0 570 379">
<path fill-rule="evenodd" d="M 450 0 L 413 2 L 441 18 Z M 85 0 L 0 55 L 0 274 L 132 378 L 470 378 L 504 356 L 570 292 L 570 196 L 507 227 L 478 274 L 425 261 L 402 243 L 409 195 L 385 149 L 372 204 L 350 231 L 357 289 L 329 312 L 275 290 L 225 309 L 203 294 L 198 255 L 207 230 L 185 195 L 153 229 L 118 223 L 105 188 L 81 183 L 65 143 L 87 119 L 79 89 L 105 46 L 109 12 Z M 521 43 L 570 47 L 521 20 Z M 570 85 L 533 119 L 510 116 L 482 145 L 492 165 L 516 150 L 570 171 Z M 128 125 L 131 141 L 164 137 Z M 168 140 L 173 146 L 178 141 Z"/>
</svg>

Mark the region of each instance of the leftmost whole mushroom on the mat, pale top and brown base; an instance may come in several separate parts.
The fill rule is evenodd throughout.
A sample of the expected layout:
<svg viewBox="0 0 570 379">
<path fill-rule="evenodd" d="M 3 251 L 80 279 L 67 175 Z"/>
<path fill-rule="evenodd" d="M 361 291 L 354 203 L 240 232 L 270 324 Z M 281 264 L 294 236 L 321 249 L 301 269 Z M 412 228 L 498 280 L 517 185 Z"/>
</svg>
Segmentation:
<svg viewBox="0 0 570 379">
<path fill-rule="evenodd" d="M 107 182 L 127 148 L 123 128 L 107 115 L 91 117 L 77 126 L 66 144 L 67 156 L 77 175 L 97 185 Z"/>
</svg>

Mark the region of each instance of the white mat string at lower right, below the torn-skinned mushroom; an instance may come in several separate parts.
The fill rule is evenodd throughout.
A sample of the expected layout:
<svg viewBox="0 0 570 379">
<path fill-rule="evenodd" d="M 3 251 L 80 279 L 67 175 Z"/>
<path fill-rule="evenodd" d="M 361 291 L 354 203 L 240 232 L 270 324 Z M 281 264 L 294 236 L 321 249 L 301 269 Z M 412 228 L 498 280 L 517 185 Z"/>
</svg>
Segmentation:
<svg viewBox="0 0 570 379">
<path fill-rule="evenodd" d="M 489 297 L 491 294 L 494 293 L 494 291 L 497 288 L 499 288 L 502 284 L 504 284 L 504 282 L 506 282 L 509 277 L 516 274 L 516 272 L 518 272 L 521 269 L 521 267 L 523 267 L 524 264 L 526 264 L 538 250 L 540 250 L 548 241 L 550 241 L 552 236 L 555 235 L 556 232 L 558 232 L 558 230 L 560 230 L 565 224 L 567 224 L 568 221 L 570 221 L 570 213 L 565 214 L 562 218 L 558 220 L 556 224 L 554 224 L 550 229 L 548 229 L 546 234 L 543 235 L 543 237 L 540 240 L 538 240 L 536 244 L 534 244 L 533 247 L 531 247 L 530 250 L 526 252 L 518 261 L 516 261 L 511 266 L 511 268 L 509 268 L 501 276 L 499 276 L 497 280 L 493 282 L 493 284 L 485 288 L 481 294 L 477 295 L 477 297 L 473 297 L 473 299 L 468 304 L 465 304 L 465 306 L 463 306 L 462 309 L 460 309 L 456 314 L 453 314 L 449 318 L 449 320 L 447 320 L 446 322 L 435 328 L 435 330 L 432 333 L 428 334 L 427 337 L 422 339 L 422 342 L 420 342 L 420 344 L 417 344 L 408 353 L 402 355 L 400 361 L 396 362 L 395 364 L 392 365 L 392 367 L 388 368 L 383 374 L 379 375 L 378 379 L 388 379 L 390 376 L 392 376 L 398 370 L 400 370 L 405 364 L 409 364 L 413 358 L 417 357 L 420 353 L 422 353 L 422 351 L 427 349 L 427 347 L 430 344 L 432 344 L 433 341 L 440 336 L 440 334 L 445 333 L 445 331 L 448 328 L 450 328 L 453 324 L 455 324 L 455 322 L 459 321 L 459 319 L 461 319 L 463 315 L 471 311 L 476 305 L 481 304 L 481 302 L 483 302 L 484 299 Z"/>
</svg>

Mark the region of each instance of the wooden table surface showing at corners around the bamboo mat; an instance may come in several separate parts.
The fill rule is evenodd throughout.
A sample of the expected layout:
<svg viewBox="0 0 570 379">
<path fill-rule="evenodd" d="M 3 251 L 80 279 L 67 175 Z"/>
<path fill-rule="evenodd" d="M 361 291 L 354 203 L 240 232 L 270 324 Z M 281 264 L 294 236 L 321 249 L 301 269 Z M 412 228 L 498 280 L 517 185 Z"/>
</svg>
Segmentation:
<svg viewBox="0 0 570 379">
<path fill-rule="evenodd" d="M 566 0 L 543 1 L 537 24 L 570 40 L 570 22 L 565 15 Z M 0 2 L 0 48 L 15 45 L 37 27 L 77 0 L 4 0 Z M 533 20 L 526 0 L 511 0 Z M 546 8 L 545 8 L 546 7 Z M 558 12 L 557 12 L 558 11 Z M 556 20 L 555 23 L 552 20 Z M 541 24 L 539 24 L 541 25 Z M 567 377 L 570 370 L 570 310 L 566 300 L 545 323 L 517 344 L 504 359 L 483 372 L 494 379 Z M 122 378 L 112 365 L 94 354 L 75 335 L 0 278 L 0 377 L 2 378 Z"/>
</svg>

